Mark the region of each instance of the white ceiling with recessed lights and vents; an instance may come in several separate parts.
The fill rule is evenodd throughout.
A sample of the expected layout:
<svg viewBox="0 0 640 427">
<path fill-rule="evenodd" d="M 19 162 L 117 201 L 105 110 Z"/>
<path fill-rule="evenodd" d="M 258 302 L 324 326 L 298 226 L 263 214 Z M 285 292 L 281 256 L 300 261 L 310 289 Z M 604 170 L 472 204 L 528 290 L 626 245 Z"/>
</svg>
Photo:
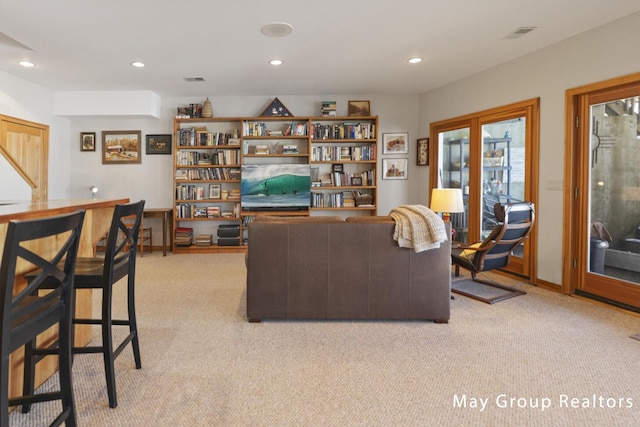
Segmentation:
<svg viewBox="0 0 640 427">
<path fill-rule="evenodd" d="M 638 11 L 638 0 L 0 0 L 0 70 L 54 91 L 423 93 Z M 271 22 L 294 32 L 265 37 Z M 522 26 L 538 29 L 507 38 Z"/>
</svg>

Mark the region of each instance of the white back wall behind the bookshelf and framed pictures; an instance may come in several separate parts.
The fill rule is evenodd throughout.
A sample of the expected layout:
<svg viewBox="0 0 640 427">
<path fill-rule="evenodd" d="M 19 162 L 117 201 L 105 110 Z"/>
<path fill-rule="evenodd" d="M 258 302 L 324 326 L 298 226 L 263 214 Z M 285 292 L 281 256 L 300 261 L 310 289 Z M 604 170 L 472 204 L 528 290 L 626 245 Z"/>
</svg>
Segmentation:
<svg viewBox="0 0 640 427">
<path fill-rule="evenodd" d="M 145 199 L 147 207 L 172 205 L 172 156 L 146 155 L 142 148 L 142 162 L 135 165 L 102 164 L 102 131 L 141 130 L 144 136 L 154 133 L 173 133 L 173 118 L 178 106 L 202 103 L 202 98 L 165 98 L 162 100 L 161 119 L 97 119 L 74 118 L 71 121 L 71 197 L 84 198 L 89 187 L 99 188 L 99 197 L 129 197 L 131 200 Z M 259 115 L 273 100 L 272 97 L 240 96 L 216 97 L 208 95 L 216 117 L 251 117 Z M 369 99 L 371 113 L 380 115 L 380 132 L 409 132 L 412 140 L 417 138 L 418 96 L 278 96 L 278 99 L 297 116 L 320 115 L 320 102 L 336 100 L 338 114 L 346 115 L 349 99 Z M 80 132 L 96 132 L 96 151 L 80 151 Z M 415 148 L 415 143 L 411 144 Z M 380 148 L 380 147 L 379 147 Z M 410 164 L 415 164 L 415 153 L 409 154 Z M 409 181 L 379 181 L 379 212 L 388 213 L 401 203 L 418 203 L 419 176 L 409 171 Z M 380 175 L 379 175 L 380 176 Z"/>
</svg>

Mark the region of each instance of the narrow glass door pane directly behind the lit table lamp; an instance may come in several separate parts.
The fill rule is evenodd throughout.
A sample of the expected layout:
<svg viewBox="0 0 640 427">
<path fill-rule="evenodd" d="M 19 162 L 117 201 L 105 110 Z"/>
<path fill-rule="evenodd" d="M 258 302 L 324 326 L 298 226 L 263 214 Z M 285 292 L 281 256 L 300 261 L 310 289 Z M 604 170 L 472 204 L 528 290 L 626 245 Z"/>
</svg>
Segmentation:
<svg viewBox="0 0 640 427">
<path fill-rule="evenodd" d="M 469 243 L 469 128 L 438 133 L 438 144 L 442 153 L 438 187 L 461 188 L 464 199 L 464 212 L 451 214 L 453 239 Z"/>
</svg>

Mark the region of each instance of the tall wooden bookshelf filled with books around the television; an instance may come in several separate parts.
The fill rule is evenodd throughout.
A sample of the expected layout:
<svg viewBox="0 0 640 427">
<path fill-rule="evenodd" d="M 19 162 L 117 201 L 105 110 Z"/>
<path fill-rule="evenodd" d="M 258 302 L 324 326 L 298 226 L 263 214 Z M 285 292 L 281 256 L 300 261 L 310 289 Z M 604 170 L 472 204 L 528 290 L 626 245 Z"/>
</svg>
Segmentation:
<svg viewBox="0 0 640 427">
<path fill-rule="evenodd" d="M 193 229 L 192 244 L 182 246 L 174 239 L 176 253 L 244 251 L 247 224 L 257 215 L 377 214 L 377 116 L 176 118 L 174 135 L 173 231 Z M 207 159 L 215 160 L 206 163 Z M 238 194 L 242 165 L 250 164 L 310 165 L 311 208 L 243 212 L 238 198 L 210 197 L 210 191 L 215 192 L 211 186 Z M 363 200 L 367 203 L 360 204 Z M 231 208 L 232 216 L 210 216 L 208 207 L 227 214 Z M 215 243 L 220 224 L 238 224 L 238 245 Z M 214 244 L 197 246 L 202 234 L 212 234 Z"/>
</svg>

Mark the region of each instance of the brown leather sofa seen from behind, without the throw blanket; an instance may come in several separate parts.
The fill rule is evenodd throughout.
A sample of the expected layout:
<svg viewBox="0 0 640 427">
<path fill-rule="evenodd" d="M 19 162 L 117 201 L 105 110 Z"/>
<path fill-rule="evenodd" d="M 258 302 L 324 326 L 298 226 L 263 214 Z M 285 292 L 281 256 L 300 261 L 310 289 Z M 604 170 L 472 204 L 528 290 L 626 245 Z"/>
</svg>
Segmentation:
<svg viewBox="0 0 640 427">
<path fill-rule="evenodd" d="M 446 323 L 451 242 L 415 253 L 393 240 L 394 227 L 390 217 L 257 218 L 246 258 L 248 320 Z"/>
</svg>

